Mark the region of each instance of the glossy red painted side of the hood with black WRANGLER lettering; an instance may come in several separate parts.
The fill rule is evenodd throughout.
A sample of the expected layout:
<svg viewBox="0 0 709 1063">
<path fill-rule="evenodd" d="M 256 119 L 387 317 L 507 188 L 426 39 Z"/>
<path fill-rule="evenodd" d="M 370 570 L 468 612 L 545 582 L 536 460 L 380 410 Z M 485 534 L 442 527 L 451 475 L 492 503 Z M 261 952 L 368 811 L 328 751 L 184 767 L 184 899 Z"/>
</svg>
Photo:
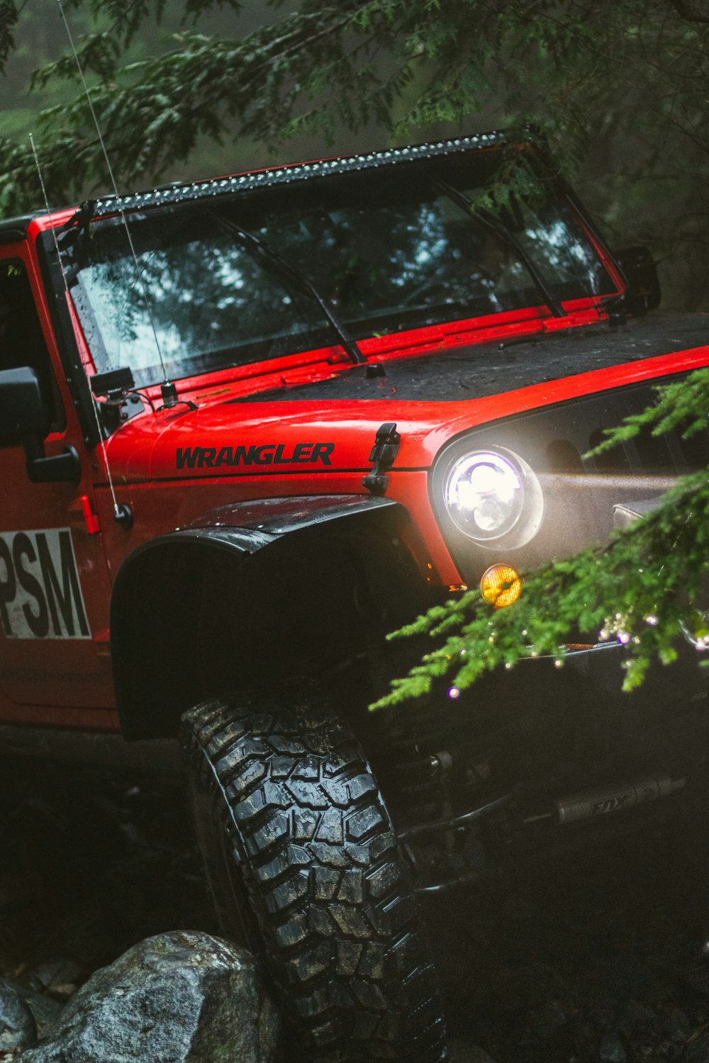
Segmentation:
<svg viewBox="0 0 709 1063">
<path fill-rule="evenodd" d="M 376 429 L 395 421 L 402 437 L 395 467 L 422 469 L 470 427 L 707 364 L 709 345 L 468 401 L 398 401 L 394 394 L 385 402 L 271 398 L 178 407 L 129 422 L 109 440 L 108 457 L 114 475 L 130 480 L 366 470 Z"/>
</svg>

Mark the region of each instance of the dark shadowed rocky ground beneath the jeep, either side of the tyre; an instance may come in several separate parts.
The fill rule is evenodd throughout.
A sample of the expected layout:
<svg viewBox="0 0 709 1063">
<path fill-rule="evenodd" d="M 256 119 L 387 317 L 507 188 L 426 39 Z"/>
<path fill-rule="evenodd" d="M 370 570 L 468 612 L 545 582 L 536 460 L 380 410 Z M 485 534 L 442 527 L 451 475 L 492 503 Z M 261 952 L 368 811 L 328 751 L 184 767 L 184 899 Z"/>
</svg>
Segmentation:
<svg viewBox="0 0 709 1063">
<path fill-rule="evenodd" d="M 454 1060 L 709 1063 L 702 839 L 688 822 L 428 902 Z M 97 967 L 173 929 L 218 932 L 174 783 L 0 764 L 0 977 L 40 1033 Z"/>
</svg>

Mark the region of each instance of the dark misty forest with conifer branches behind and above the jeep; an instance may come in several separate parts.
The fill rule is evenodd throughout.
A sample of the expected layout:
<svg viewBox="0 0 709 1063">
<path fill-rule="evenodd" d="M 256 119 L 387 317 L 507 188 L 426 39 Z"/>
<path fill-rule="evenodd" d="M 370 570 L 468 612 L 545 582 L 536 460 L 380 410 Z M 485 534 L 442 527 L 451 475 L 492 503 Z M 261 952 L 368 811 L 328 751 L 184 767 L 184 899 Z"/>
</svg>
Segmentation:
<svg viewBox="0 0 709 1063">
<path fill-rule="evenodd" d="M 79 86 L 71 63 L 56 65 L 67 52 L 56 0 L 2 0 L 0 45 L 3 12 L 14 47 L 0 81 L 0 212 L 40 205 L 28 166 L 30 132 L 43 146 L 52 205 L 106 189 L 101 163 L 89 159 L 88 149 L 84 156 L 78 148 L 71 158 L 69 133 L 88 124 L 81 100 L 72 104 Z M 332 7 L 67 0 L 66 12 L 87 49 L 87 77 L 121 190 L 531 119 L 609 243 L 651 247 L 663 306 L 709 309 L 709 14 L 699 6 L 681 0 L 411 0 L 405 7 L 398 0 Z M 199 16 L 193 24 L 185 12 Z M 343 14 L 350 21 L 340 29 Z M 276 30 L 293 18 L 297 29 L 299 18 L 316 19 L 317 27 L 313 32 L 308 23 L 294 58 L 284 60 L 275 54 Z M 165 69 L 151 67 L 151 56 L 172 56 L 171 70 L 179 70 L 181 52 L 193 56 L 199 48 L 196 33 L 214 68 L 204 67 L 198 84 L 192 62 L 166 88 Z M 249 63 L 258 67 L 265 54 L 270 80 L 247 86 L 244 102 L 242 71 Z M 131 90 L 144 84 L 149 92 L 151 78 L 157 87 L 149 105 L 144 99 L 142 109 L 131 109 Z M 198 100 L 193 107 L 190 97 Z M 47 108 L 50 116 L 40 118 Z M 141 124 L 151 131 L 142 155 L 129 147 Z"/>
</svg>

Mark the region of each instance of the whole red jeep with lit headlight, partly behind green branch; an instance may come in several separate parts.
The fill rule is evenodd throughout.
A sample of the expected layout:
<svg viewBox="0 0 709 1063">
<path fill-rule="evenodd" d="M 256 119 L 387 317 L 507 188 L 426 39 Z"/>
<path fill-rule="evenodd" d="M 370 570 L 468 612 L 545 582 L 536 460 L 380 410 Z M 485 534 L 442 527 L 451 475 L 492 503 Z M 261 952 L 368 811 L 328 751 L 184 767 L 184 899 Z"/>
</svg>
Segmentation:
<svg viewBox="0 0 709 1063">
<path fill-rule="evenodd" d="M 525 190 L 495 204 L 501 166 Z M 652 263 L 624 265 L 494 133 L 0 223 L 0 746 L 159 769 L 182 728 L 292 1054 L 443 1059 L 417 894 L 700 793 L 689 645 L 634 695 L 622 645 L 574 644 L 367 712 L 420 652 L 388 630 L 709 461 L 707 435 L 585 457 L 709 362 L 706 318 L 644 317 Z"/>
</svg>

